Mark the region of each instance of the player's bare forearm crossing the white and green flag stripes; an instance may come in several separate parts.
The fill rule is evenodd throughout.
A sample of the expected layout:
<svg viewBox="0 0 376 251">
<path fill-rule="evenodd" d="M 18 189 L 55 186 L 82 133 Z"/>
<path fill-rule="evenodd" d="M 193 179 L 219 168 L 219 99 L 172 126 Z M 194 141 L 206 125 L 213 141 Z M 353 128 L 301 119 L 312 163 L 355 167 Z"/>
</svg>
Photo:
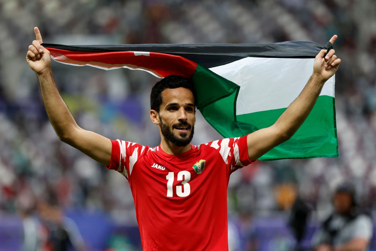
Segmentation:
<svg viewBox="0 0 376 251">
<path fill-rule="evenodd" d="M 311 112 L 323 86 L 322 78 L 312 74 L 299 96 L 274 124 L 281 135 L 284 135 L 285 138 L 294 135 Z"/>
</svg>

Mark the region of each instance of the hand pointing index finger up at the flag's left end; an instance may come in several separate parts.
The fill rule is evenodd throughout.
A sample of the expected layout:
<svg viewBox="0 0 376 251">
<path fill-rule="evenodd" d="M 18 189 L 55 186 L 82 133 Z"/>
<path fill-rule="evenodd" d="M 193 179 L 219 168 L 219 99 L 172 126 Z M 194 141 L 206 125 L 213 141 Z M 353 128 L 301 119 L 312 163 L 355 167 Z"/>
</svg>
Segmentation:
<svg viewBox="0 0 376 251">
<path fill-rule="evenodd" d="M 38 27 L 34 28 L 34 32 L 36 40 L 29 46 L 26 61 L 30 68 L 32 68 L 36 74 L 40 75 L 51 68 L 51 56 L 49 50 L 41 46 L 43 42 Z"/>
</svg>

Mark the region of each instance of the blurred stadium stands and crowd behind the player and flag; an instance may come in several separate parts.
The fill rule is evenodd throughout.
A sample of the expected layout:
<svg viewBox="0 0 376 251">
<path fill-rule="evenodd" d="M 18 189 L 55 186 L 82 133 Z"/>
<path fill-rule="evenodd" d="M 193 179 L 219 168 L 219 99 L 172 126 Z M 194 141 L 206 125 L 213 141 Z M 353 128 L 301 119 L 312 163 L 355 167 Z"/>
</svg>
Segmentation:
<svg viewBox="0 0 376 251">
<path fill-rule="evenodd" d="M 45 43 L 326 44 L 338 35 L 336 109 L 340 158 L 256 162 L 229 183 L 232 250 L 291 250 L 287 219 L 299 194 L 312 208 L 303 247 L 332 210 L 332 191 L 355 183 L 360 206 L 376 210 L 376 2 L 373 0 L 0 0 L 0 250 L 19 250 L 21 215 L 36 201 L 73 219 L 88 250 L 140 250 L 123 176 L 58 140 L 35 74 L 25 61 L 41 30 Z M 53 62 L 56 84 L 77 123 L 106 137 L 159 143 L 149 95 L 157 78 Z M 220 138 L 198 114 L 195 145 Z M 375 219 L 375 218 L 374 218 Z M 376 249 L 373 240 L 371 248 Z"/>
</svg>

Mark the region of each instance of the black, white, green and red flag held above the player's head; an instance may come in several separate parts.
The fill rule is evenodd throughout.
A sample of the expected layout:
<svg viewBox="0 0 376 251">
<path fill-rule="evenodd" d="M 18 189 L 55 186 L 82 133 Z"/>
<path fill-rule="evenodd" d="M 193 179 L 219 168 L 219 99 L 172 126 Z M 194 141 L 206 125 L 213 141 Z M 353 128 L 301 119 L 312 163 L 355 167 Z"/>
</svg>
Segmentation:
<svg viewBox="0 0 376 251">
<path fill-rule="evenodd" d="M 321 49 L 313 42 L 274 44 L 43 44 L 55 61 L 105 70 L 144 70 L 192 78 L 197 109 L 223 137 L 273 125 L 302 91 Z M 301 128 L 260 160 L 338 157 L 334 76 Z"/>
</svg>

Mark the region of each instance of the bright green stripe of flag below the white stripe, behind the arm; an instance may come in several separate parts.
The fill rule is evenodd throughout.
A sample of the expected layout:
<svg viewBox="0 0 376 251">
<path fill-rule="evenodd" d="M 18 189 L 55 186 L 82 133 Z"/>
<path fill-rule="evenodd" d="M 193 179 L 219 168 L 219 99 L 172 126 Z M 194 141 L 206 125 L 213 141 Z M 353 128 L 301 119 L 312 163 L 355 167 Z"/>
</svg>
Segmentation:
<svg viewBox="0 0 376 251">
<path fill-rule="evenodd" d="M 294 136 L 264 154 L 259 160 L 338 157 L 335 110 L 328 109 L 334 107 L 334 101 L 334 97 L 319 96 L 311 113 Z M 273 125 L 285 110 L 286 108 L 281 108 L 242 114 L 238 115 L 237 119 L 238 122 L 247 121 L 256 129 L 261 129 Z"/>
</svg>

